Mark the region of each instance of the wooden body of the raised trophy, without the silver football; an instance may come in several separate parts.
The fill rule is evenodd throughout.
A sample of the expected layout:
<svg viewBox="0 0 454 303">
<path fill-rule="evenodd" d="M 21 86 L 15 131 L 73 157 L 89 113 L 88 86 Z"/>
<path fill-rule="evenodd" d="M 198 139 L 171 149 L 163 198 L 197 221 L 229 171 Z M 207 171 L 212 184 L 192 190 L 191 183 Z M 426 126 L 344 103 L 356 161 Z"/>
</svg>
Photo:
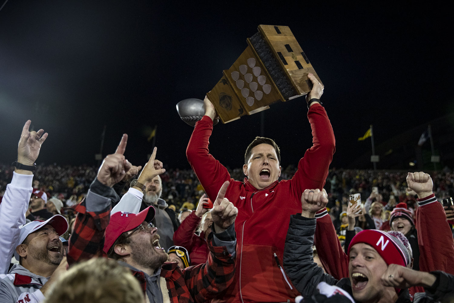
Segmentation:
<svg viewBox="0 0 454 303">
<path fill-rule="evenodd" d="M 308 73 L 321 83 L 288 26 L 259 25 L 247 45 L 207 93 L 222 123 L 306 95 L 312 88 Z"/>
</svg>

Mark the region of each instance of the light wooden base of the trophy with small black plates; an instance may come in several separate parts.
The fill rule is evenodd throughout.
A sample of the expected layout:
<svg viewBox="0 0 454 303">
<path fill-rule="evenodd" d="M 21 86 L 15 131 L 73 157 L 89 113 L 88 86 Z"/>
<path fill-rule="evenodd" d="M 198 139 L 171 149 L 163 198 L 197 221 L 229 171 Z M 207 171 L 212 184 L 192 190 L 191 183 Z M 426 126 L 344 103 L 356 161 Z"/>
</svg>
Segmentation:
<svg viewBox="0 0 454 303">
<path fill-rule="evenodd" d="M 288 26 L 259 25 L 258 30 L 299 94 L 289 99 L 311 91 L 312 84 L 307 78 L 308 73 L 314 74 L 322 83 Z"/>
</svg>

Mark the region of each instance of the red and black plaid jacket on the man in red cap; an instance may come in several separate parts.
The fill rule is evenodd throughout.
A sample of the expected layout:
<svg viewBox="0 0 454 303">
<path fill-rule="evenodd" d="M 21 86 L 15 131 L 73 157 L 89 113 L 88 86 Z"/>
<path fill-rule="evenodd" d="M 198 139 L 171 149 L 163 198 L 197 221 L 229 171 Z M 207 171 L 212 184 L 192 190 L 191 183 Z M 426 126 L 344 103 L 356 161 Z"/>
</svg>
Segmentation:
<svg viewBox="0 0 454 303">
<path fill-rule="evenodd" d="M 100 212 L 88 212 L 85 201 L 74 205 L 78 212 L 74 224 L 74 233 L 69 239 L 68 264 L 74 264 L 94 256 L 104 256 L 104 233 L 109 224 L 110 208 Z M 214 247 L 213 235 L 208 237 L 210 255 L 207 263 L 180 269 L 177 263 L 164 263 L 161 277 L 167 282 L 168 295 L 171 302 L 202 303 L 216 298 L 232 284 L 235 274 L 235 258 L 225 247 Z M 147 288 L 145 275 L 141 271 L 134 272 L 143 292 Z"/>
</svg>

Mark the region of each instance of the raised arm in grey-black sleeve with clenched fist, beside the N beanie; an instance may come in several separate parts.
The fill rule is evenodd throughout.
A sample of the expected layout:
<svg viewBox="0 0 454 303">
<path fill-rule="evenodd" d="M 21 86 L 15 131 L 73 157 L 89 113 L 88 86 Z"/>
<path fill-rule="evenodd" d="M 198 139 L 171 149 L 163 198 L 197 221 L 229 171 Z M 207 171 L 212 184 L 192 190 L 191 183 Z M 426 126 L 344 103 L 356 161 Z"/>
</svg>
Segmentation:
<svg viewBox="0 0 454 303">
<path fill-rule="evenodd" d="M 301 215 L 291 215 L 284 248 L 284 269 L 303 297 L 311 296 L 320 282 L 337 280 L 314 262 L 312 246 L 316 229 L 315 214 L 326 206 L 326 192 L 306 189 L 301 197 Z M 326 248 L 324 248 L 326 249 Z M 317 249 L 318 251 L 318 249 Z"/>
</svg>

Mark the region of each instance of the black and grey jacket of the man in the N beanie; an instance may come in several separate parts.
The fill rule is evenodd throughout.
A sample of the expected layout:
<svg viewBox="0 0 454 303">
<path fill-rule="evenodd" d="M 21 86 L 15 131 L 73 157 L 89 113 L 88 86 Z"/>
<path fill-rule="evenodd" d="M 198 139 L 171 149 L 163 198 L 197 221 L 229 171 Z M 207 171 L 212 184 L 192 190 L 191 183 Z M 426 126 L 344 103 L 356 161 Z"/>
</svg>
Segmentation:
<svg viewBox="0 0 454 303">
<path fill-rule="evenodd" d="M 284 248 L 284 269 L 287 275 L 303 297 L 314 294 L 320 282 L 336 285 L 352 294 L 349 278 L 337 280 L 314 263 L 312 246 L 315 228 L 316 219 L 291 216 Z M 454 296 L 454 276 L 440 271 L 431 273 L 437 277 L 437 281 L 432 288 L 426 288 L 425 293 L 416 293 L 414 303 L 439 302 L 438 300 Z M 408 289 L 400 292 L 397 302 L 411 302 Z"/>
</svg>

